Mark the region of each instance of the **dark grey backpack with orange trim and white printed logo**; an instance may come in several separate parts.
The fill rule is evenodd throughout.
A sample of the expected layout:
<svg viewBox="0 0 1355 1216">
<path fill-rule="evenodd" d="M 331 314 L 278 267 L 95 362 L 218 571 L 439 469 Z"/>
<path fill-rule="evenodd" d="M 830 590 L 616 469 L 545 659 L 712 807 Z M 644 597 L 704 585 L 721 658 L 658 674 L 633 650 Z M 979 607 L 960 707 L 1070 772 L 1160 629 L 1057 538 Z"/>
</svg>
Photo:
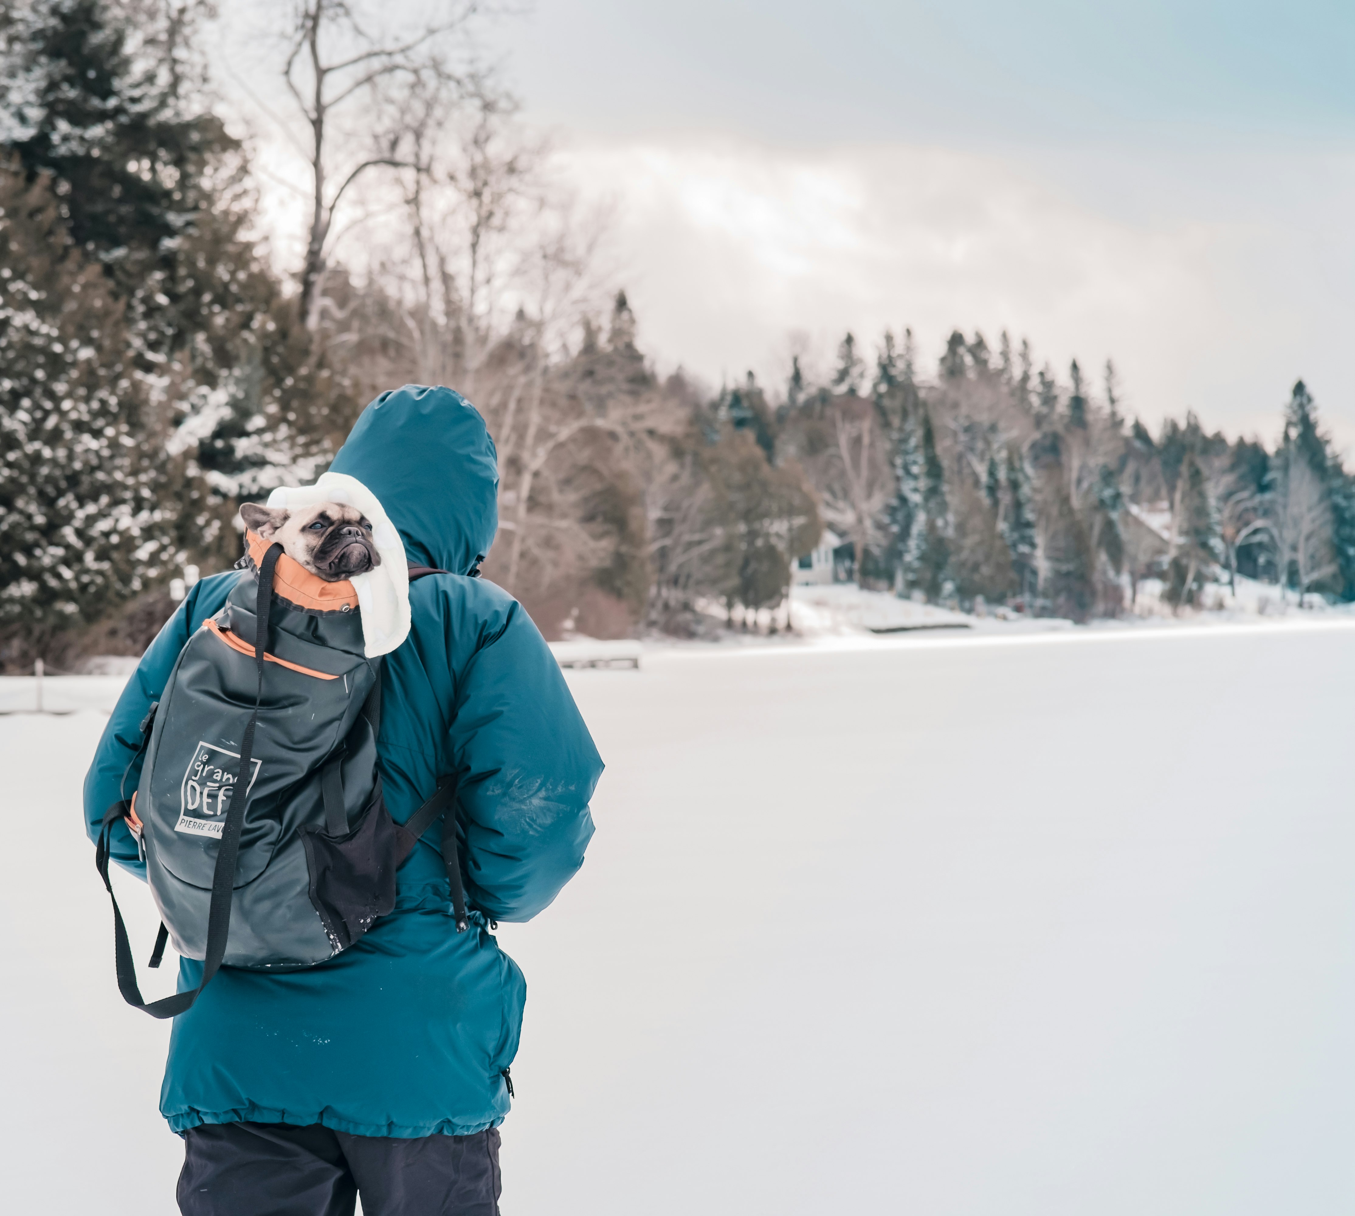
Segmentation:
<svg viewBox="0 0 1355 1216">
<path fill-rule="evenodd" d="M 386 811 L 382 660 L 364 656 L 356 596 L 343 591 L 351 584 L 325 584 L 331 598 L 317 599 L 297 590 L 305 571 L 280 545 L 264 552 L 255 538 L 252 550 L 257 565 L 244 560 L 225 607 L 188 640 L 141 724 L 141 782 L 104 813 L 95 850 L 112 897 L 108 842 L 127 822 L 161 916 L 149 965 L 169 938 L 203 960 L 195 990 L 142 1000 L 112 897 L 118 987 L 157 1018 L 192 1006 L 222 964 L 283 972 L 348 949 L 394 907 L 396 870 L 439 815 L 457 931 L 467 927 L 454 779 L 439 779 L 404 826 Z M 440 571 L 409 576 L 427 573 Z"/>
</svg>

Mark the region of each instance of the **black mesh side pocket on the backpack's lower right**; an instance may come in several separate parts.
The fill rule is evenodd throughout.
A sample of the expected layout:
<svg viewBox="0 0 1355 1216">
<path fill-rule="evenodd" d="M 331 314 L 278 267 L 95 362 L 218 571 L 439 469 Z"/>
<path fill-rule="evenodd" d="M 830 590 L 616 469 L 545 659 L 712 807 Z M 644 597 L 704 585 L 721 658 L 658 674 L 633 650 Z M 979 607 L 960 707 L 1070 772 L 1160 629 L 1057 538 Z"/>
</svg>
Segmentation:
<svg viewBox="0 0 1355 1216">
<path fill-rule="evenodd" d="M 377 796 L 358 826 L 344 836 L 322 828 L 301 830 L 310 872 L 310 903 L 337 954 L 396 906 L 396 824 Z"/>
</svg>

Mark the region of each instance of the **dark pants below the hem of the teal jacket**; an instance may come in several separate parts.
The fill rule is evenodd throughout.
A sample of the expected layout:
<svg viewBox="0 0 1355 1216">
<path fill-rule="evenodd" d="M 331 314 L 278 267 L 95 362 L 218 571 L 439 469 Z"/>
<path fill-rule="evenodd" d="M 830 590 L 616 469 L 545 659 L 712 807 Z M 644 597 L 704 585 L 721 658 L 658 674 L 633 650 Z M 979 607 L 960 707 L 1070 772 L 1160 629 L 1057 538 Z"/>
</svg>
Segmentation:
<svg viewBox="0 0 1355 1216">
<path fill-rule="evenodd" d="M 350 1136 L 320 1124 L 203 1124 L 184 1136 L 183 1216 L 499 1216 L 499 1131 Z"/>
</svg>

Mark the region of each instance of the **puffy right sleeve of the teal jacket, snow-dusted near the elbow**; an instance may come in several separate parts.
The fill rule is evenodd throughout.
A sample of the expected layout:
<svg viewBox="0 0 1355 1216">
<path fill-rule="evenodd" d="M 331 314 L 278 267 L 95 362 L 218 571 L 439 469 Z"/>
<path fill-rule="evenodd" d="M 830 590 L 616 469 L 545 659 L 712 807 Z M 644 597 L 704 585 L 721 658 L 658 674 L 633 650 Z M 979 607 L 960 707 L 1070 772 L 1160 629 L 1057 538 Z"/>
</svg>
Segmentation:
<svg viewBox="0 0 1355 1216">
<path fill-rule="evenodd" d="M 457 681 L 449 743 L 467 899 L 495 919 L 530 920 L 583 865 L 603 765 L 560 664 L 516 602 Z"/>
</svg>

